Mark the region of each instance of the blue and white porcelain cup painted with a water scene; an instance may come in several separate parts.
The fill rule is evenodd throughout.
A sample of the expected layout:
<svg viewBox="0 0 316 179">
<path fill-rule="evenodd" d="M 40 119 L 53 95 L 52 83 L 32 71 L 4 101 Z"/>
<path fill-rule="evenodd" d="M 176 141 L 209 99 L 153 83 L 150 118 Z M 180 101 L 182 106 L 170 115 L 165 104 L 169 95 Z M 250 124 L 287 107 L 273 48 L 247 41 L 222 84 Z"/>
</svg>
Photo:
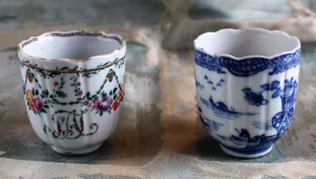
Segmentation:
<svg viewBox="0 0 316 179">
<path fill-rule="evenodd" d="M 263 29 L 224 29 L 194 41 L 200 120 L 236 157 L 269 153 L 289 128 L 298 88 L 301 45 Z"/>
</svg>

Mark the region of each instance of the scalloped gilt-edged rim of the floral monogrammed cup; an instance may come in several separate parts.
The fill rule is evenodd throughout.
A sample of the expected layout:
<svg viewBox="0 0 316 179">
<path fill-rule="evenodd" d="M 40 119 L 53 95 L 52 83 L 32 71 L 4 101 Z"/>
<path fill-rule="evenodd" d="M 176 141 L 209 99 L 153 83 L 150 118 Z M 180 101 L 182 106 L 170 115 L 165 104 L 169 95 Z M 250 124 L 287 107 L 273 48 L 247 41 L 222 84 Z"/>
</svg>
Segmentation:
<svg viewBox="0 0 316 179">
<path fill-rule="evenodd" d="M 59 33 L 59 34 L 71 34 L 71 33 L 89 33 L 89 34 L 102 34 L 104 36 L 109 36 L 109 37 L 116 37 L 118 38 L 119 40 L 119 44 L 121 44 L 121 46 L 118 48 L 118 49 L 115 49 L 113 50 L 112 52 L 110 53 L 107 53 L 107 54 L 103 54 L 103 55 L 96 55 L 96 56 L 90 56 L 88 58 L 85 58 L 85 59 L 71 59 L 71 58 L 57 58 L 57 59 L 51 59 L 51 58 L 43 58 L 43 57 L 39 57 L 39 56 L 31 56 L 31 55 L 28 55 L 27 53 L 25 53 L 23 51 L 23 47 L 22 45 L 24 43 L 27 43 L 29 41 L 32 41 L 34 39 L 43 39 L 43 38 L 46 38 L 47 35 L 49 34 L 54 34 L 54 33 Z M 93 36 L 93 37 L 99 37 L 99 36 Z M 67 38 L 67 37 L 65 37 Z M 29 58 L 33 58 L 33 59 L 42 59 L 42 60 L 50 60 L 50 61 L 76 61 L 76 62 L 82 62 L 82 61 L 87 61 L 87 60 L 90 60 L 91 58 L 102 58 L 102 57 L 108 57 L 112 54 L 114 54 L 115 52 L 121 50 L 124 46 L 126 45 L 126 42 L 117 34 L 106 34 L 105 32 L 103 31 L 85 31 L 85 30 L 77 30 L 77 31 L 66 31 L 66 32 L 60 32 L 60 31 L 52 31 L 52 32 L 46 32 L 46 33 L 43 33 L 41 34 L 40 36 L 32 36 L 30 37 L 28 40 L 25 40 L 25 41 L 22 41 L 19 43 L 18 45 L 18 52 L 26 57 L 29 57 Z"/>
</svg>

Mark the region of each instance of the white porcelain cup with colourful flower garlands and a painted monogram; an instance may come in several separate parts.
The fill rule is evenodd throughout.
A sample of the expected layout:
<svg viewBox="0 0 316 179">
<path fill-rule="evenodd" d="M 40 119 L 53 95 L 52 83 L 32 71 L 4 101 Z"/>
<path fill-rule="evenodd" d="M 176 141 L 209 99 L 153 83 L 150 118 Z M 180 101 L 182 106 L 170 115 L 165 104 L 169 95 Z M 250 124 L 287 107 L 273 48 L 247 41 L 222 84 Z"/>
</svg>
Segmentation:
<svg viewBox="0 0 316 179">
<path fill-rule="evenodd" d="M 121 118 L 126 43 L 103 32 L 51 32 L 18 45 L 25 103 L 41 140 L 61 154 L 98 149 Z"/>
</svg>

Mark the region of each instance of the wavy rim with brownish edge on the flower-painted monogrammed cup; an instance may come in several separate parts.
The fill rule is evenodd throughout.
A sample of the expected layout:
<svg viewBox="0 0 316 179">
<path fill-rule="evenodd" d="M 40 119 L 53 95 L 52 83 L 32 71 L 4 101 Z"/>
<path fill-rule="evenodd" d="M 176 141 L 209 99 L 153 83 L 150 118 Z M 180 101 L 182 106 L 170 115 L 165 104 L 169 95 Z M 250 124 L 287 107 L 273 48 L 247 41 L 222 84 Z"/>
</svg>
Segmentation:
<svg viewBox="0 0 316 179">
<path fill-rule="evenodd" d="M 77 33 L 76 35 L 70 35 L 72 33 Z M 43 57 L 39 57 L 39 56 L 31 56 L 28 55 L 27 53 L 25 53 L 23 51 L 23 47 L 26 45 L 29 45 L 33 42 L 38 41 L 39 39 L 43 39 L 46 37 L 72 37 L 72 36 L 89 36 L 88 34 L 91 34 L 92 37 L 102 37 L 105 39 L 112 39 L 112 40 L 116 40 L 118 42 L 118 44 L 120 44 L 120 47 L 111 51 L 110 53 L 107 54 L 102 54 L 102 55 L 95 55 L 95 56 L 90 56 L 88 58 L 85 59 L 71 59 L 71 58 L 57 58 L 57 59 L 52 59 L 52 58 L 43 58 Z M 64 35 L 64 36 L 62 36 Z M 67 36 L 69 35 L 69 36 Z M 92 58 L 103 58 L 103 57 L 108 57 L 112 54 L 114 54 L 115 52 L 121 50 L 124 46 L 126 46 L 126 42 L 117 34 L 106 34 L 103 31 L 85 31 L 85 30 L 80 30 L 80 31 L 67 31 L 67 32 L 60 32 L 60 31 L 52 31 L 52 32 L 46 32 L 41 34 L 40 36 L 36 36 L 36 37 L 30 37 L 28 40 L 22 41 L 19 43 L 18 45 L 18 52 L 26 57 L 32 58 L 32 59 L 42 59 L 42 60 L 50 60 L 50 61 L 75 61 L 75 62 L 84 62 L 84 61 L 88 61 Z"/>
</svg>

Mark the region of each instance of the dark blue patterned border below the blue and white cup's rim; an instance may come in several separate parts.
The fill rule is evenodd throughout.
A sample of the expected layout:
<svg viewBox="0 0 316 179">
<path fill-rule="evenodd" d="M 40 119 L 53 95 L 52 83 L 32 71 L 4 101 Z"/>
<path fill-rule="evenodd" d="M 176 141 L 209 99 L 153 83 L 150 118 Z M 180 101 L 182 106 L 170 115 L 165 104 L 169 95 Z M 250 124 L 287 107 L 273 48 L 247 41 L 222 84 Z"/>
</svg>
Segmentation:
<svg viewBox="0 0 316 179">
<path fill-rule="evenodd" d="M 269 75 L 274 75 L 295 68 L 300 64 L 301 48 L 294 53 L 277 56 L 273 59 L 268 58 L 247 58 L 236 60 L 229 57 L 214 57 L 203 51 L 194 48 L 195 63 L 210 71 L 218 74 L 225 74 L 223 68 L 238 77 L 248 77 L 272 69 Z"/>
</svg>

